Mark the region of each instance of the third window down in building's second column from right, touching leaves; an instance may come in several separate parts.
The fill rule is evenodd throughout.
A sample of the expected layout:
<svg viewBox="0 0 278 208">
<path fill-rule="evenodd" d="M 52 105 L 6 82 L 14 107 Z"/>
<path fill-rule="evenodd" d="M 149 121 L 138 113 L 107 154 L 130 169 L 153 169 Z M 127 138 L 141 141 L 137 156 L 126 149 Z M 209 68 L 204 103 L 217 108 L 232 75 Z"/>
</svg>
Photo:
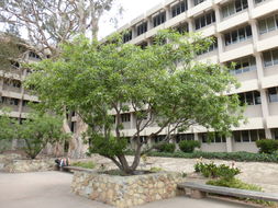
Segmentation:
<svg viewBox="0 0 278 208">
<path fill-rule="evenodd" d="M 256 59 L 253 56 L 240 59 L 240 60 L 235 60 L 233 61 L 235 62 L 235 67 L 233 70 L 231 70 L 230 72 L 232 74 L 241 74 L 241 73 L 245 73 L 252 70 L 256 70 Z M 227 66 L 231 66 L 232 63 L 227 63 Z"/>
</svg>

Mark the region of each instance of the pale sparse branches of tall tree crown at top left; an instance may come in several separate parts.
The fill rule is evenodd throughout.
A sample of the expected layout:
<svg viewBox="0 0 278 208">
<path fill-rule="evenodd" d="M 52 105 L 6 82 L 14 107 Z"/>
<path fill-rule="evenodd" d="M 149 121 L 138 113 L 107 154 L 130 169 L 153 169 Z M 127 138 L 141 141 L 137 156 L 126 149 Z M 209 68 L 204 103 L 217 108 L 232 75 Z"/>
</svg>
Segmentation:
<svg viewBox="0 0 278 208">
<path fill-rule="evenodd" d="M 0 23 L 27 33 L 41 58 L 57 56 L 59 44 L 77 34 L 97 38 L 99 20 L 116 0 L 1 0 Z M 121 9 L 119 9 L 121 11 Z M 11 30 L 10 30 L 11 31 Z"/>
</svg>

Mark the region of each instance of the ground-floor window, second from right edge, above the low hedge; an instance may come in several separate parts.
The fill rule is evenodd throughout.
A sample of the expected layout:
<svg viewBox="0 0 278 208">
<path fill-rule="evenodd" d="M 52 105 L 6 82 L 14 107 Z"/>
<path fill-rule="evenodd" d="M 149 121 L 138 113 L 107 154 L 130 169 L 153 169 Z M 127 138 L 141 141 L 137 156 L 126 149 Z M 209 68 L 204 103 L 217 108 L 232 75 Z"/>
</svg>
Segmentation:
<svg viewBox="0 0 278 208">
<path fill-rule="evenodd" d="M 265 130 L 264 129 L 255 129 L 255 130 L 236 130 L 233 131 L 233 138 L 235 142 L 255 142 L 259 139 L 265 139 Z"/>
</svg>

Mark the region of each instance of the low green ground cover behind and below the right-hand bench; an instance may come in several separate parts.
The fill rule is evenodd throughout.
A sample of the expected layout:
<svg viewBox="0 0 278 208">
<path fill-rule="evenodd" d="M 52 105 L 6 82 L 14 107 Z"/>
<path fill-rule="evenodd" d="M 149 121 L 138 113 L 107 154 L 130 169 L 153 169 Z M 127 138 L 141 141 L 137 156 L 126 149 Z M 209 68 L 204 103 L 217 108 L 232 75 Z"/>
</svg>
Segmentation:
<svg viewBox="0 0 278 208">
<path fill-rule="evenodd" d="M 213 186 L 224 186 L 224 187 L 230 187 L 230 188 L 263 192 L 262 187 L 259 187 L 257 185 L 244 183 L 244 182 L 242 182 L 241 180 L 237 180 L 237 178 L 211 180 L 211 181 L 208 181 L 207 184 L 208 185 L 213 185 Z M 258 199 L 244 198 L 244 200 L 249 200 L 249 201 L 254 201 L 256 204 L 266 205 L 266 206 L 273 206 L 274 205 L 274 203 L 265 201 L 265 200 L 258 200 Z"/>
</svg>

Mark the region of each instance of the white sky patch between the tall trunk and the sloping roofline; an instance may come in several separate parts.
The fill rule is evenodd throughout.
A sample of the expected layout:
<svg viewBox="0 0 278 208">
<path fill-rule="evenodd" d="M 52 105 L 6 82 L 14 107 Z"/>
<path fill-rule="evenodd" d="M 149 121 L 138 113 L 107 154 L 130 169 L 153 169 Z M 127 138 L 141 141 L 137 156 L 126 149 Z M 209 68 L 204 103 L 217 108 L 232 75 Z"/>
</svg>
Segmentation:
<svg viewBox="0 0 278 208">
<path fill-rule="evenodd" d="M 118 0 L 118 4 L 120 3 L 124 10 L 118 20 L 118 25 L 115 27 L 115 25 L 109 21 L 111 19 L 111 15 L 114 15 L 116 13 L 115 10 L 108 12 L 100 21 L 99 38 L 105 37 L 116 28 L 131 22 L 133 19 L 145 13 L 145 11 L 152 9 L 160 2 L 163 2 L 163 0 Z"/>
</svg>

